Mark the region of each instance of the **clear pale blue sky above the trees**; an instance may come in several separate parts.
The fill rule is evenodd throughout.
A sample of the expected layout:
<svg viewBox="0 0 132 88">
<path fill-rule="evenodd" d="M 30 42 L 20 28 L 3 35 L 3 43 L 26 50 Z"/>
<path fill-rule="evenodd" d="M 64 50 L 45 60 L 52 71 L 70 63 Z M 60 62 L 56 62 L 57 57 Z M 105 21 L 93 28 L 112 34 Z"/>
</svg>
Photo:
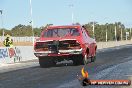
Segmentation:
<svg viewBox="0 0 132 88">
<path fill-rule="evenodd" d="M 30 0 L 0 0 L 0 9 L 3 10 L 4 28 L 30 24 Z M 32 10 L 34 27 L 50 23 L 69 25 L 72 11 L 74 22 L 81 24 L 121 21 L 126 27 L 132 27 L 132 0 L 32 0 Z"/>
</svg>

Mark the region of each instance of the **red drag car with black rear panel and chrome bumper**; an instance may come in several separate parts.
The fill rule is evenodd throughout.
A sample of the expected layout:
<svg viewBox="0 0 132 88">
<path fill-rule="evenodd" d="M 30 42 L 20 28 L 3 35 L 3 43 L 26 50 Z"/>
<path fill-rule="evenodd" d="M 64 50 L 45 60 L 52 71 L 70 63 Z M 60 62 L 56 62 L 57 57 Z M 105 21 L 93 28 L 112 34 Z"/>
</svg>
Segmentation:
<svg viewBox="0 0 132 88">
<path fill-rule="evenodd" d="M 41 67 L 53 66 L 64 59 L 85 65 L 96 58 L 96 41 L 81 25 L 49 26 L 35 42 L 34 54 Z"/>
</svg>

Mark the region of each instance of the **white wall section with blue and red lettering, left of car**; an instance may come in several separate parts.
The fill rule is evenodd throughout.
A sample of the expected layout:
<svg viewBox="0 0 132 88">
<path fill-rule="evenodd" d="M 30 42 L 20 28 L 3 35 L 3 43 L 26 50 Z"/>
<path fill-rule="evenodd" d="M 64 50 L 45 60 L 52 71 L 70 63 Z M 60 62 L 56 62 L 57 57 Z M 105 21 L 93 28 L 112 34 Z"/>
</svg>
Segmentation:
<svg viewBox="0 0 132 88">
<path fill-rule="evenodd" d="M 32 46 L 0 47 L 0 63 L 16 63 L 37 59 Z"/>
</svg>

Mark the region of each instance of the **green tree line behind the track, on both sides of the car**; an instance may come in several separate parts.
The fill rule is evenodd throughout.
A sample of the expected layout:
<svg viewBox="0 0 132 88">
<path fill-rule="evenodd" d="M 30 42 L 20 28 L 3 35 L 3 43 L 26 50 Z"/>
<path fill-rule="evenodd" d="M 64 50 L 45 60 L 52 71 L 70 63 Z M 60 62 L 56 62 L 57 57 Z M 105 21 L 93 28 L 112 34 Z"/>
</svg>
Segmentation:
<svg viewBox="0 0 132 88">
<path fill-rule="evenodd" d="M 94 31 L 93 31 L 93 24 L 94 24 Z M 3 30 L 4 30 L 4 34 L 9 34 L 15 37 L 32 36 L 33 33 L 34 36 L 39 37 L 41 32 L 45 30 L 46 27 L 49 25 L 52 24 L 47 24 L 39 28 L 33 28 L 33 32 L 32 32 L 32 27 L 30 25 L 19 24 L 13 27 L 11 30 L 5 28 L 0 29 L 0 36 L 3 35 Z M 99 24 L 97 22 L 89 22 L 87 24 L 84 24 L 84 27 L 88 30 L 90 36 L 94 37 L 96 41 L 106 41 L 106 33 L 107 33 L 107 41 L 121 40 L 121 39 L 125 40 L 126 32 L 129 33 L 129 36 L 127 37 L 128 39 L 131 39 L 131 35 L 132 35 L 131 28 L 125 28 L 124 24 L 122 24 L 121 22 L 105 23 L 105 24 Z M 115 37 L 115 32 L 116 32 L 116 37 Z M 121 32 L 122 32 L 122 38 L 121 38 Z"/>
</svg>

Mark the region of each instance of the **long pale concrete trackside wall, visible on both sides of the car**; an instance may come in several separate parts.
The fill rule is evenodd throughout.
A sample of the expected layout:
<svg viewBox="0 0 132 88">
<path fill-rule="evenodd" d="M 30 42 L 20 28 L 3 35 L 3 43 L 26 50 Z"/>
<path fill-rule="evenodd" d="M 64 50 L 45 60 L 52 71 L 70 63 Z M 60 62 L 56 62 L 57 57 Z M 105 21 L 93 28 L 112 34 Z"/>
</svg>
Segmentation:
<svg viewBox="0 0 132 88">
<path fill-rule="evenodd" d="M 110 41 L 98 42 L 98 49 L 132 44 L 132 41 Z M 37 59 L 34 56 L 32 46 L 17 46 L 13 48 L 0 47 L 0 63 L 15 63 L 19 61 L 27 61 Z"/>
</svg>

